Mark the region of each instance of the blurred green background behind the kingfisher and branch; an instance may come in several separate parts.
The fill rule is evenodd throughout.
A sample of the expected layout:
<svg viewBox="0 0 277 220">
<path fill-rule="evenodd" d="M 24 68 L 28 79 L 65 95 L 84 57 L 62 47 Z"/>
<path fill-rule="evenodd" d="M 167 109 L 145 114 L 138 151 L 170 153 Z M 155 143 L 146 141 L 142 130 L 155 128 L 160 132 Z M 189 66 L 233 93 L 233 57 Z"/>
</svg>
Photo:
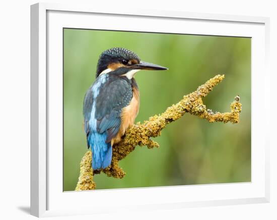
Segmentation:
<svg viewBox="0 0 277 220">
<path fill-rule="evenodd" d="M 141 92 L 136 122 L 148 120 L 217 74 L 222 83 L 204 98 L 214 112 L 229 112 L 239 94 L 239 124 L 208 123 L 185 114 L 155 139 L 158 149 L 137 147 L 120 162 L 123 179 L 95 175 L 97 189 L 251 181 L 251 39 L 64 29 L 63 189 L 74 190 L 87 151 L 83 98 L 95 80 L 99 55 L 112 47 L 132 50 L 167 71 L 136 74 Z"/>
</svg>

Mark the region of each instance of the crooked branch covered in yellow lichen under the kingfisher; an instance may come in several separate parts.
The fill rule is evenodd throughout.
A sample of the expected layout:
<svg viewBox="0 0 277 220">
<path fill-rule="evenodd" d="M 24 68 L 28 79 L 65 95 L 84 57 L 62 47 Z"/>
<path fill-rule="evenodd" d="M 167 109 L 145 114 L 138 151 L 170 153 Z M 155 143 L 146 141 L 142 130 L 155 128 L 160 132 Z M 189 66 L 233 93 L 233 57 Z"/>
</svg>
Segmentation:
<svg viewBox="0 0 277 220">
<path fill-rule="evenodd" d="M 92 154 L 88 151 L 83 157 L 80 167 L 79 181 L 76 190 L 95 189 L 96 184 L 93 181 L 93 175 L 103 171 L 107 176 L 114 178 L 123 178 L 124 171 L 119 167 L 118 162 L 131 153 L 137 145 L 147 146 L 149 149 L 158 148 L 159 144 L 150 138 L 161 135 L 161 131 L 171 122 L 180 119 L 185 113 L 206 119 L 210 123 L 214 122 L 239 122 L 239 114 L 241 112 L 241 103 L 239 96 L 231 103 L 230 113 L 213 113 L 211 109 L 207 109 L 203 104 L 202 98 L 205 97 L 213 88 L 224 79 L 224 75 L 217 75 L 206 81 L 205 84 L 199 86 L 196 91 L 185 95 L 177 104 L 168 107 L 166 111 L 157 116 L 149 118 L 143 124 L 138 122 L 131 126 L 122 137 L 122 140 L 113 146 L 112 162 L 106 169 L 95 170 L 91 168 Z M 94 172 L 94 173 L 93 173 Z"/>
</svg>

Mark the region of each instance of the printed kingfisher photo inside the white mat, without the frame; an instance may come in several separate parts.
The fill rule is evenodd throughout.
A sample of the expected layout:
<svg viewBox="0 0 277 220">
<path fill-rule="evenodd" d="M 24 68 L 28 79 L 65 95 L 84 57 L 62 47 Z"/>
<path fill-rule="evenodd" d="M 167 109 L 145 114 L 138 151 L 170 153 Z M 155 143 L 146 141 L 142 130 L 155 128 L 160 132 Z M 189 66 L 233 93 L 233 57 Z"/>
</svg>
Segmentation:
<svg viewBox="0 0 277 220">
<path fill-rule="evenodd" d="M 251 181 L 251 38 L 63 29 L 63 191 Z"/>
</svg>

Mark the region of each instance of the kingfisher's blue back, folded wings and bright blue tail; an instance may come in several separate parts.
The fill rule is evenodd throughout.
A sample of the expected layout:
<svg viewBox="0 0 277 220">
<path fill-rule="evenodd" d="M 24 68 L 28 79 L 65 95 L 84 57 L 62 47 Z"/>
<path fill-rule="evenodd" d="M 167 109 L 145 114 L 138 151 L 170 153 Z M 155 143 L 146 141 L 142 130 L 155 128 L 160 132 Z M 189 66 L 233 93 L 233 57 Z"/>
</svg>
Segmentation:
<svg viewBox="0 0 277 220">
<path fill-rule="evenodd" d="M 119 76 L 99 76 L 84 99 L 84 128 L 87 144 L 93 152 L 93 169 L 111 163 L 111 140 L 120 128 L 121 109 L 132 98 L 131 84 Z"/>
</svg>

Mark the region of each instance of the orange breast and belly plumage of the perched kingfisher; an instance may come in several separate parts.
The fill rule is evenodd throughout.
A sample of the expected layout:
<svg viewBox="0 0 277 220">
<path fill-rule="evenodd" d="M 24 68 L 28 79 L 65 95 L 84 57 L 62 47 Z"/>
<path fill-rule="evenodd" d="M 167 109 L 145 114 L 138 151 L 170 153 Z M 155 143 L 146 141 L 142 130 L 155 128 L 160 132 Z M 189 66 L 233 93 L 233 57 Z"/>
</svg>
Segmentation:
<svg viewBox="0 0 277 220">
<path fill-rule="evenodd" d="M 118 143 L 121 140 L 121 137 L 125 134 L 127 128 L 133 125 L 134 120 L 138 114 L 138 110 L 140 109 L 140 92 L 133 87 L 133 97 L 126 107 L 122 108 L 121 111 L 121 125 L 119 132 L 112 139 L 111 145 Z"/>
</svg>

